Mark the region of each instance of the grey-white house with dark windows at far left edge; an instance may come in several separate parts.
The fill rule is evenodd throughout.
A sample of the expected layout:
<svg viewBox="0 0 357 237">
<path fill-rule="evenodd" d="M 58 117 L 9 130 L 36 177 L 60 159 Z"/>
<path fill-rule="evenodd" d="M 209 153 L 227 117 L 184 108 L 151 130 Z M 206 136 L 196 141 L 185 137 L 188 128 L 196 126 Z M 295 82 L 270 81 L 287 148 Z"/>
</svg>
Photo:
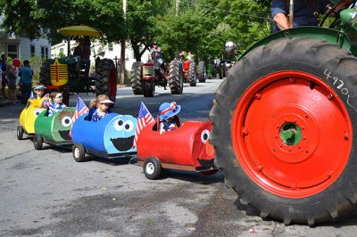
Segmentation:
<svg viewBox="0 0 357 237">
<path fill-rule="evenodd" d="M 0 26 L 3 17 L 0 16 Z M 29 60 L 36 56 L 38 59 L 51 58 L 51 42 L 45 38 L 29 39 L 28 37 L 18 37 L 7 35 L 0 29 L 0 53 L 5 53 L 10 58 L 21 58 Z"/>
</svg>

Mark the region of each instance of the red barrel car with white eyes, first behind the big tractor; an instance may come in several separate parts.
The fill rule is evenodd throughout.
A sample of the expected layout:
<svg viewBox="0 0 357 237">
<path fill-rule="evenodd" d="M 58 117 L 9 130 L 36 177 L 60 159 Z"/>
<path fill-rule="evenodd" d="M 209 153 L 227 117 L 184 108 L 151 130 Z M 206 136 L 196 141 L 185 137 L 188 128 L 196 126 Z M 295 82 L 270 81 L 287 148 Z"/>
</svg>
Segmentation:
<svg viewBox="0 0 357 237">
<path fill-rule="evenodd" d="M 148 179 L 159 178 L 162 168 L 203 175 L 217 171 L 213 164 L 214 149 L 208 141 L 211 122 L 187 121 L 162 135 L 157 127 L 158 122 L 145 126 L 137 138 L 138 165 L 143 166 Z"/>
</svg>

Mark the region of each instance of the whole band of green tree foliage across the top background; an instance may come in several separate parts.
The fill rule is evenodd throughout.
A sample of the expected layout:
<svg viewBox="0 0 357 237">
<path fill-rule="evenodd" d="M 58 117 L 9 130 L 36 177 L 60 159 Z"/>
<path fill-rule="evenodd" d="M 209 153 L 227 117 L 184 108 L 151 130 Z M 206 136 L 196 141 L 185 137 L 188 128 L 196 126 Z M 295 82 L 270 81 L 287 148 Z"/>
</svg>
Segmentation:
<svg viewBox="0 0 357 237">
<path fill-rule="evenodd" d="M 243 52 L 271 32 L 270 0 L 128 0 L 126 19 L 120 0 L 0 0 L 3 28 L 30 38 L 62 40 L 57 29 L 85 24 L 104 33 L 110 43 L 127 39 L 137 60 L 153 41 L 166 61 L 179 50 L 198 59 L 225 53 L 228 40 Z"/>
</svg>

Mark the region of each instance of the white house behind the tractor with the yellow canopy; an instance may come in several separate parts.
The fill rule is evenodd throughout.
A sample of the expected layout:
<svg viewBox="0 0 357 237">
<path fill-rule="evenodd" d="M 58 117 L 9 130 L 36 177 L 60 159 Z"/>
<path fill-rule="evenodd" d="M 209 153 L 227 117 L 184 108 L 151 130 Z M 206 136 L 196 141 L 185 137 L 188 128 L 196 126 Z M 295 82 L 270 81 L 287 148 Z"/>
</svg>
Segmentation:
<svg viewBox="0 0 357 237">
<path fill-rule="evenodd" d="M 73 54 L 74 48 L 78 45 L 78 43 L 75 40 L 71 40 L 71 54 Z M 126 70 L 131 70 L 131 66 L 134 61 L 136 61 L 134 57 L 134 51 L 131 48 L 131 45 L 127 42 L 126 45 L 126 50 L 125 50 L 125 69 Z M 104 58 L 112 59 L 115 61 L 115 59 L 118 60 L 120 63 L 120 51 L 121 47 L 120 44 L 108 44 L 108 45 L 103 45 L 100 42 L 91 42 L 91 65 L 95 65 L 95 56 L 98 55 L 99 53 L 101 56 L 104 56 Z M 61 53 L 64 55 L 68 55 L 68 45 L 67 41 L 62 41 L 61 43 L 57 45 L 52 45 L 51 47 L 51 52 L 52 52 L 52 58 L 60 56 Z M 148 50 L 145 51 L 143 56 L 141 57 L 141 61 L 148 61 L 148 57 L 150 55 L 150 52 Z"/>
</svg>

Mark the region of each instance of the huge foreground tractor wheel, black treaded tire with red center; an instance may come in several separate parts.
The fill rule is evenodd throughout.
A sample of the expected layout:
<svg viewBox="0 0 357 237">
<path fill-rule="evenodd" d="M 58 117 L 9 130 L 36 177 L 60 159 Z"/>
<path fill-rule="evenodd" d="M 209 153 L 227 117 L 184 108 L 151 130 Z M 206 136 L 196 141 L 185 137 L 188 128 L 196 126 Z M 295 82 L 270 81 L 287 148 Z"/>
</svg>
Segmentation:
<svg viewBox="0 0 357 237">
<path fill-rule="evenodd" d="M 237 62 L 215 94 L 215 165 L 243 204 L 286 225 L 357 207 L 357 59 L 312 38 L 277 39 Z"/>
</svg>

